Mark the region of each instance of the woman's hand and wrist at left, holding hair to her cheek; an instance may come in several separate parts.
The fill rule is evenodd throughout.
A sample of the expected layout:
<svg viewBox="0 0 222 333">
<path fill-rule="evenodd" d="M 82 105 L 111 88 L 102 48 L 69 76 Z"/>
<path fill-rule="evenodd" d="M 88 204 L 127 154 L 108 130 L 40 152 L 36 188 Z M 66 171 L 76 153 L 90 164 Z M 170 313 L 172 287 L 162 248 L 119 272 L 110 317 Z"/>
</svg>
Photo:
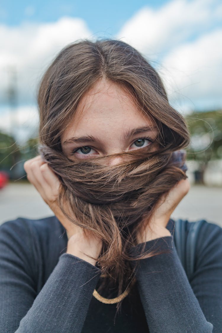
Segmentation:
<svg viewBox="0 0 222 333">
<path fill-rule="evenodd" d="M 71 222 L 61 211 L 57 203 L 60 189 L 60 180 L 41 156 L 30 159 L 24 163 L 27 179 L 36 187 L 43 200 L 48 204 L 67 232 L 67 252 L 75 255 L 95 266 L 96 260 L 87 256 L 98 258 L 102 249 L 102 241 L 90 233 L 83 232 L 83 228 Z M 86 254 L 84 254 L 85 252 Z"/>
</svg>

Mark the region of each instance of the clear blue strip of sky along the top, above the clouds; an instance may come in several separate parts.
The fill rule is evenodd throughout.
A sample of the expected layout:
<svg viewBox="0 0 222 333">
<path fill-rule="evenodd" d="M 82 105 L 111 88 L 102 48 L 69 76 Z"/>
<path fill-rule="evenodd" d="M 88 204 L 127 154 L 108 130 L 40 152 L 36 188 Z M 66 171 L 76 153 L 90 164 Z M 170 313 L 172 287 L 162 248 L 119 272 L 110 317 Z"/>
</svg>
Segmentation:
<svg viewBox="0 0 222 333">
<path fill-rule="evenodd" d="M 9 26 L 23 21 L 54 22 L 61 16 L 81 17 L 96 34 L 116 34 L 137 10 L 144 6 L 160 8 L 167 0 L 156 1 L 6 1 L 0 5 L 0 20 Z M 13 8 L 13 10 L 12 10 Z"/>
</svg>

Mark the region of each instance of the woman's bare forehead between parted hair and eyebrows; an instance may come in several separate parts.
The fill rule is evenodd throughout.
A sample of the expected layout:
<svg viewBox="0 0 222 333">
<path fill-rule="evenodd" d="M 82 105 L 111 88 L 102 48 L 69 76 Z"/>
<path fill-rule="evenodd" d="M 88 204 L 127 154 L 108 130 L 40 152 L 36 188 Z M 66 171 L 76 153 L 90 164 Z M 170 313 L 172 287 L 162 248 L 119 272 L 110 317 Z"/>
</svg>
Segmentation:
<svg viewBox="0 0 222 333">
<path fill-rule="evenodd" d="M 101 80 L 82 97 L 65 137 L 86 131 L 104 135 L 113 128 L 121 131 L 145 124 L 152 122 L 141 113 L 129 93 L 115 83 Z"/>
</svg>

